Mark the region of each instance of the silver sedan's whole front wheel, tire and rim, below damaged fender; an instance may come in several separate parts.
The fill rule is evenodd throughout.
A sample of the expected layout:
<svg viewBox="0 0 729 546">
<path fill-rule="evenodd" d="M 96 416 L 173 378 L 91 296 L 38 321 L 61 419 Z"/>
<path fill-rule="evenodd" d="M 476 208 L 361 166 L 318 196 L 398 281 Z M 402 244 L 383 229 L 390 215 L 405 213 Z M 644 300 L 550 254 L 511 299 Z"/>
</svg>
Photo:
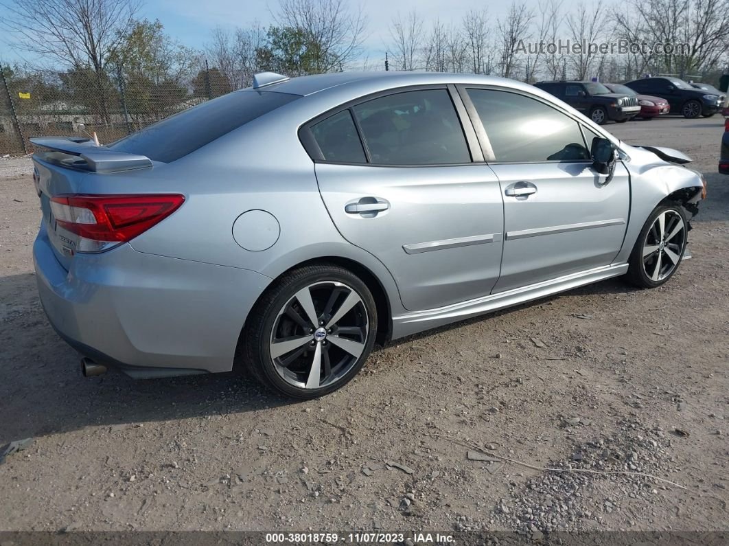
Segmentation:
<svg viewBox="0 0 729 546">
<path fill-rule="evenodd" d="M 668 203 L 656 207 L 638 235 L 625 277 L 640 288 L 665 284 L 681 265 L 687 234 L 682 206 Z"/>
</svg>

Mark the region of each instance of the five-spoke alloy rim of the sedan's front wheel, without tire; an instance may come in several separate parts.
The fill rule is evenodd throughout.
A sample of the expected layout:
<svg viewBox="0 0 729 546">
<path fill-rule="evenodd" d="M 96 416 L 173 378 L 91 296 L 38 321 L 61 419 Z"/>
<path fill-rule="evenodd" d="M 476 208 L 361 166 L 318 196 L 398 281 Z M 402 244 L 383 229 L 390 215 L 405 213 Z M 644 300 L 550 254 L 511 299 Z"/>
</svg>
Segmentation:
<svg viewBox="0 0 729 546">
<path fill-rule="evenodd" d="M 684 219 L 677 211 L 663 211 L 653 221 L 643 243 L 643 270 L 652 281 L 663 281 L 681 261 L 686 242 Z"/>
</svg>

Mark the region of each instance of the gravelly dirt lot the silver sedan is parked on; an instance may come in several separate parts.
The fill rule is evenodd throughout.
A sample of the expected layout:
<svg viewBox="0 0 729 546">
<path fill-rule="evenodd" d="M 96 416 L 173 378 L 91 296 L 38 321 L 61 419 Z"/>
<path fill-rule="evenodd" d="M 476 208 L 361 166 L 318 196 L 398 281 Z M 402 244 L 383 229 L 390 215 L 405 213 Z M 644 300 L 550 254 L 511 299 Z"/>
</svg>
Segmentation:
<svg viewBox="0 0 729 546">
<path fill-rule="evenodd" d="M 709 180 L 666 286 L 606 281 L 410 338 L 312 402 L 235 373 L 82 378 L 36 296 L 29 160 L 0 160 L 0 445 L 34 438 L 0 465 L 0 530 L 728 529 L 722 120 L 608 129 Z"/>
</svg>

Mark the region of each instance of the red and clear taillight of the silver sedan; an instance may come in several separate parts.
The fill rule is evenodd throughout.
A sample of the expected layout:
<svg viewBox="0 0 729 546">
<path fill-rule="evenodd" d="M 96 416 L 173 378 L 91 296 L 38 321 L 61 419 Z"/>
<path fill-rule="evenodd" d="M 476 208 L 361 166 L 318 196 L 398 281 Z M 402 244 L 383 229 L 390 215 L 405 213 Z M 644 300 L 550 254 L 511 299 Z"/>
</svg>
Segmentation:
<svg viewBox="0 0 729 546">
<path fill-rule="evenodd" d="M 58 195 L 50 200 L 58 225 L 79 236 L 76 250 L 98 252 L 125 243 L 168 217 L 184 196 Z"/>
</svg>

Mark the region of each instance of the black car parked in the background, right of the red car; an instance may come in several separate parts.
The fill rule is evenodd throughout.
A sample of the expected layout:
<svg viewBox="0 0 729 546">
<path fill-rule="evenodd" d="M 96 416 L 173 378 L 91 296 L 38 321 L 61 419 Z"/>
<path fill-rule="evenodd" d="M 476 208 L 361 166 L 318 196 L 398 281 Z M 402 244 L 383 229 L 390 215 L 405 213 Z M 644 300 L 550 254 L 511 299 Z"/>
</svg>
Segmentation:
<svg viewBox="0 0 729 546">
<path fill-rule="evenodd" d="M 720 111 L 724 102 L 723 95 L 696 89 L 679 78 L 643 78 L 625 85 L 642 95 L 665 98 L 671 105 L 671 113 L 680 112 L 683 117 L 712 117 Z"/>
</svg>

